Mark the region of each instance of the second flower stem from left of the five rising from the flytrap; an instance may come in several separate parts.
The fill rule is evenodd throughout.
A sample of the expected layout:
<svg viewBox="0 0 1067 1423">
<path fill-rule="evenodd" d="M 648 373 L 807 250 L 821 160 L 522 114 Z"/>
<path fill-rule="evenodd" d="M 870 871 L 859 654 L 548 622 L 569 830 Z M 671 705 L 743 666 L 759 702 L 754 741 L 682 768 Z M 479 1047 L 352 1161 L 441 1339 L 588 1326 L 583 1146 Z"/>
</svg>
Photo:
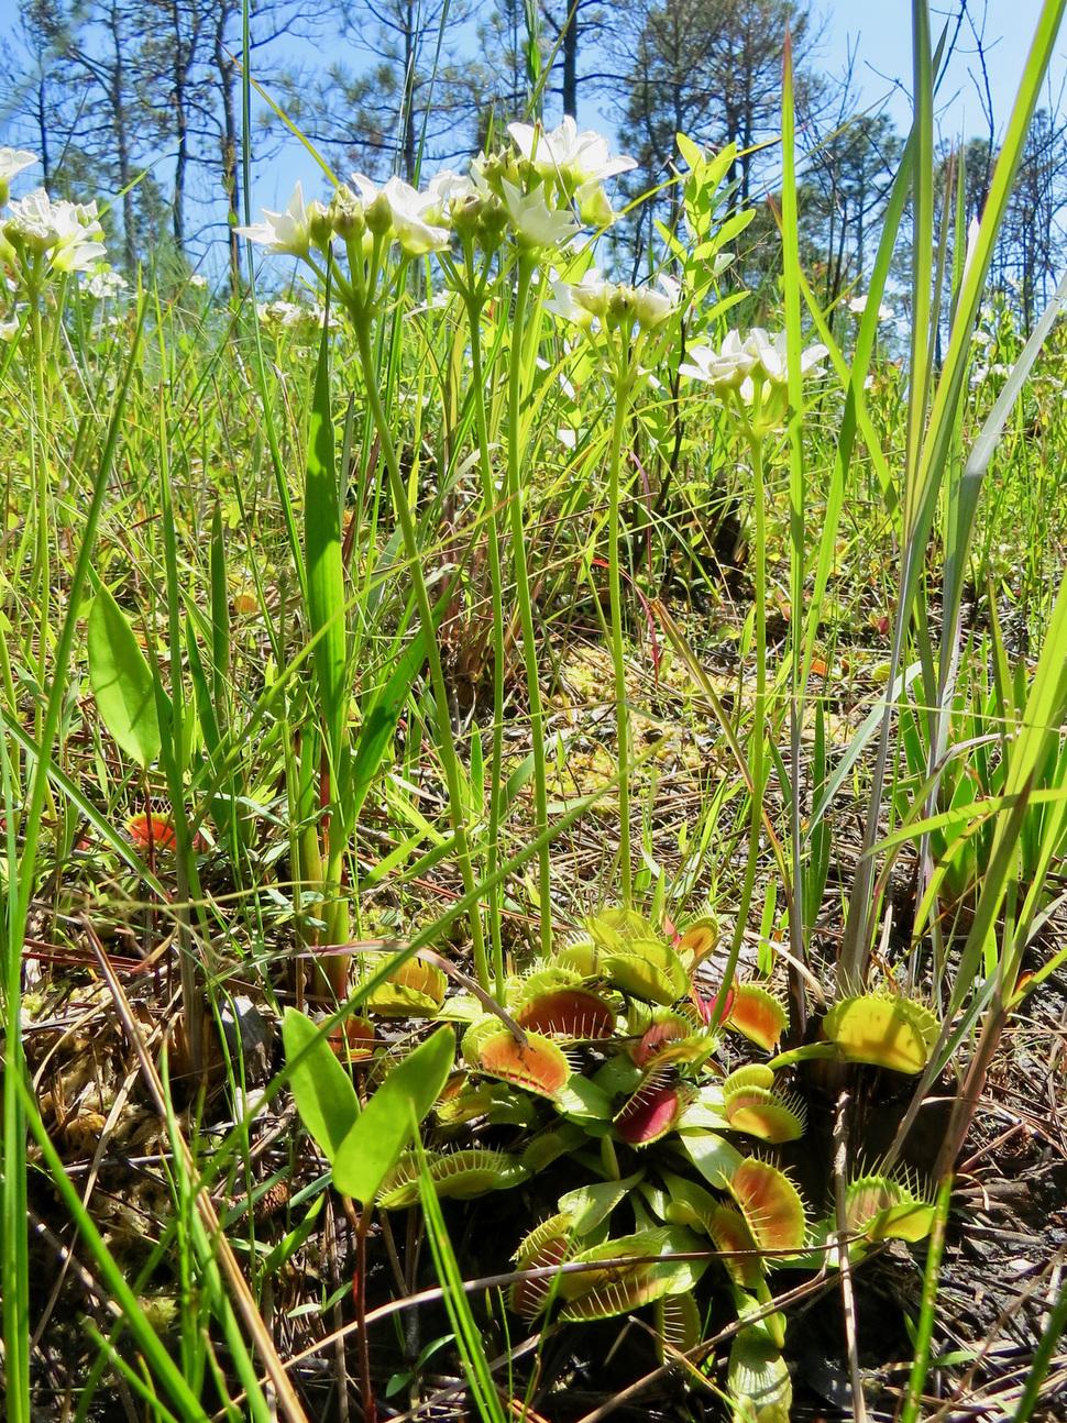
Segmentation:
<svg viewBox="0 0 1067 1423">
<path fill-rule="evenodd" d="M 501 801 L 504 797 L 504 566 L 501 535 L 497 522 L 497 488 L 489 458 L 489 428 L 485 416 L 485 376 L 482 373 L 479 290 L 474 287 L 472 243 L 465 243 L 467 270 L 471 285 L 465 287 L 467 316 L 471 326 L 471 394 L 474 424 L 478 437 L 478 470 L 482 481 L 482 502 L 488 529 L 489 585 L 492 588 L 492 751 L 489 757 L 489 837 L 485 848 L 485 878 L 491 879 L 499 864 Z M 497 996 L 504 996 L 504 942 L 501 938 L 501 895 L 494 888 L 487 895 L 489 909 L 489 938 L 492 941 L 492 970 Z"/>
</svg>

